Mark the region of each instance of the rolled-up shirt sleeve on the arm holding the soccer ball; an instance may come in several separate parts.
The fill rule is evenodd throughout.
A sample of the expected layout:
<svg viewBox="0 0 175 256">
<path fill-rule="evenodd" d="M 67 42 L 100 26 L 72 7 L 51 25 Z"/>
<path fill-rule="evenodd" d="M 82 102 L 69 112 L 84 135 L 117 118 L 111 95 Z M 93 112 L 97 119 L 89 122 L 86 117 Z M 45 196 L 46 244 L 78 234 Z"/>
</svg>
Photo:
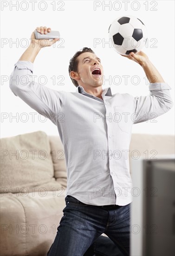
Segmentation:
<svg viewBox="0 0 175 256">
<path fill-rule="evenodd" d="M 163 115 L 174 106 L 170 95 L 171 87 L 165 83 L 150 83 L 150 94 L 147 96 L 136 96 L 135 100 L 135 123 L 148 121 Z"/>
</svg>

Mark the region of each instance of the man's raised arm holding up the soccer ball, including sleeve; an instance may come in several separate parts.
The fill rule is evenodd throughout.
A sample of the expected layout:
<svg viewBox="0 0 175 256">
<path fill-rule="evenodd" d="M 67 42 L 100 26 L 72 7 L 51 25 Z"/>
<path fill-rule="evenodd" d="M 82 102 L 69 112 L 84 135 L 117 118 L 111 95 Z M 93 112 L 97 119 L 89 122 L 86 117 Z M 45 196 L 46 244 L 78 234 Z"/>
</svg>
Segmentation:
<svg viewBox="0 0 175 256">
<path fill-rule="evenodd" d="M 135 123 L 148 121 L 157 116 L 168 112 L 173 106 L 174 102 L 170 94 L 171 87 L 166 83 L 162 75 L 158 72 L 156 67 L 149 61 L 148 56 L 142 51 L 125 56 L 128 59 L 137 62 L 149 80 L 150 94 L 147 96 L 134 97 L 135 106 L 134 113 L 138 115 L 138 120 Z"/>
</svg>

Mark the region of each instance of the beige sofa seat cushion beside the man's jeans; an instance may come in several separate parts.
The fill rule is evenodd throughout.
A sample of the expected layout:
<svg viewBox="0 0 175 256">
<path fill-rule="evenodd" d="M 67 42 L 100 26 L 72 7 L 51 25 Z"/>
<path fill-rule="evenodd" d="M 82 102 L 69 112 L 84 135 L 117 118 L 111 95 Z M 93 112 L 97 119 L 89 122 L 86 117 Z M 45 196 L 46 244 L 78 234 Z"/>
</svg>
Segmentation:
<svg viewBox="0 0 175 256">
<path fill-rule="evenodd" d="M 9 193 L 0 197 L 0 255 L 45 256 L 63 216 L 65 192 Z"/>
</svg>

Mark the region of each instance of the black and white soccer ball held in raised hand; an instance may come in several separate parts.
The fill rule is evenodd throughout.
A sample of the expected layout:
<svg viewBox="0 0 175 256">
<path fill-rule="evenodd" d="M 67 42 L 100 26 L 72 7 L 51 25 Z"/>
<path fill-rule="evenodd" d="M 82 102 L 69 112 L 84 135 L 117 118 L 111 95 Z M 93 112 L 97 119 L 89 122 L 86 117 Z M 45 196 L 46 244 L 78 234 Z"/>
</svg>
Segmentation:
<svg viewBox="0 0 175 256">
<path fill-rule="evenodd" d="M 110 24 L 108 34 L 114 50 L 123 55 L 140 51 L 147 40 L 147 29 L 143 22 L 128 15 L 114 20 Z"/>
</svg>

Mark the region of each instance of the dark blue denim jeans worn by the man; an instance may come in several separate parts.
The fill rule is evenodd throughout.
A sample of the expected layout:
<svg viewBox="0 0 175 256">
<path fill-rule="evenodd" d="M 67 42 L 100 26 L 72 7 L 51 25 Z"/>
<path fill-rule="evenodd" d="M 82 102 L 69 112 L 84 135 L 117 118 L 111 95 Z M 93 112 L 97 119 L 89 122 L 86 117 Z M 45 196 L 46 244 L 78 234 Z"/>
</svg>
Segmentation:
<svg viewBox="0 0 175 256">
<path fill-rule="evenodd" d="M 130 203 L 105 209 L 70 195 L 65 203 L 64 216 L 47 256 L 130 255 Z M 109 238 L 101 236 L 103 233 Z"/>
</svg>

